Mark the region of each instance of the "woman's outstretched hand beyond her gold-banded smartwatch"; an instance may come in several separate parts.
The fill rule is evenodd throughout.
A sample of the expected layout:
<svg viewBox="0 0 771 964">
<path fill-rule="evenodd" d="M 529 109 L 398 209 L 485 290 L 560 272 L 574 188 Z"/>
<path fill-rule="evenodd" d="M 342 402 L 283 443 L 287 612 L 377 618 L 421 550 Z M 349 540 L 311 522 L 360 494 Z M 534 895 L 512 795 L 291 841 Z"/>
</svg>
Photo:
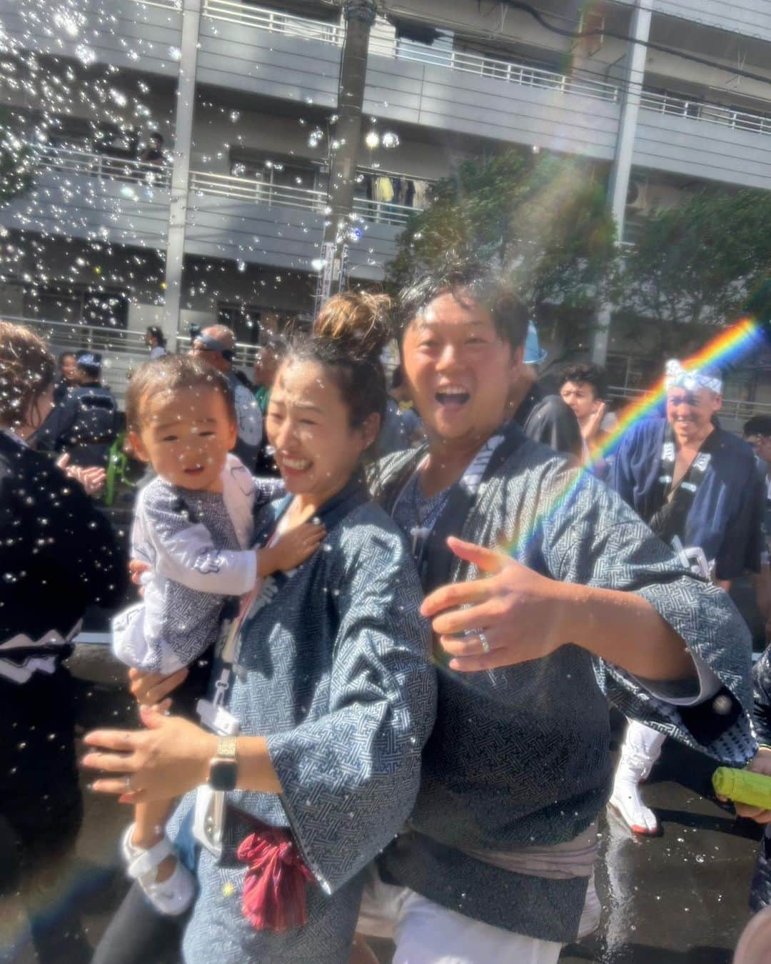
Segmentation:
<svg viewBox="0 0 771 964">
<path fill-rule="evenodd" d="M 97 793 L 115 793 L 120 803 L 167 800 L 206 782 L 217 736 L 181 716 L 143 707 L 146 730 L 95 730 L 84 742 L 83 765 L 106 776 L 93 783 Z"/>
</svg>

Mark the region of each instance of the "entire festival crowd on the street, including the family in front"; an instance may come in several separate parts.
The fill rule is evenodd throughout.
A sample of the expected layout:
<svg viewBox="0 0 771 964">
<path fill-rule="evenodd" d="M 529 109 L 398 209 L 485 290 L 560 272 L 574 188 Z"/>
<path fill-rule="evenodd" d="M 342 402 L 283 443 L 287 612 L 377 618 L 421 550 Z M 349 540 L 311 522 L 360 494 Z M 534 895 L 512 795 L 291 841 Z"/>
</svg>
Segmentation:
<svg viewBox="0 0 771 964">
<path fill-rule="evenodd" d="M 657 830 L 639 784 L 666 736 L 771 775 L 771 656 L 753 678 L 727 591 L 750 574 L 768 621 L 771 419 L 721 427 L 719 373 L 669 362 L 665 411 L 609 449 L 602 371 L 545 392 L 525 307 L 475 262 L 334 296 L 260 346 L 256 388 L 225 326 L 189 355 L 146 340 L 110 429 L 147 467 L 129 559 L 88 495 L 118 417 L 100 359 L 57 385 L 0 324 L 0 895 L 71 850 L 66 656 L 88 606 L 138 589 L 113 647 L 142 725 L 82 761 L 134 809 L 96 964 L 363 964 L 368 937 L 395 964 L 553 964 L 598 927 L 605 805 Z M 29 906 L 43 964 L 90 959 Z"/>
</svg>

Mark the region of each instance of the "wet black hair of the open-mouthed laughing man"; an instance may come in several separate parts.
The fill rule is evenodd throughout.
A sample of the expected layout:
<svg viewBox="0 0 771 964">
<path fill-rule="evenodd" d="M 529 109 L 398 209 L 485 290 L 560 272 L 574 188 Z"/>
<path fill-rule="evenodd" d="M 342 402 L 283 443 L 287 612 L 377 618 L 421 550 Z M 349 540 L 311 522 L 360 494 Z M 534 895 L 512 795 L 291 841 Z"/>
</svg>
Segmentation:
<svg viewBox="0 0 771 964">
<path fill-rule="evenodd" d="M 482 261 L 448 259 L 425 272 L 399 292 L 396 324 L 400 339 L 412 321 L 420 317 L 440 295 L 452 294 L 463 304 L 464 296 L 487 308 L 495 331 L 512 348 L 527 337 L 528 311 L 511 285 Z"/>
</svg>

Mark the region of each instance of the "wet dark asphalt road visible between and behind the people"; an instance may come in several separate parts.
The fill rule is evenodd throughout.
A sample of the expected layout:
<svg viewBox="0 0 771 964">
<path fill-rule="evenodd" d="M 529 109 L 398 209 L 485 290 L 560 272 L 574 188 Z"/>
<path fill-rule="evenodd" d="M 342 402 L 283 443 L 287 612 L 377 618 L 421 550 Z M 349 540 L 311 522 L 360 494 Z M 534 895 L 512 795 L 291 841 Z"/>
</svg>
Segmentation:
<svg viewBox="0 0 771 964">
<path fill-rule="evenodd" d="M 73 669 L 83 678 L 82 726 L 131 725 L 134 709 L 122 689 L 125 671 L 105 648 L 79 651 Z M 661 836 L 633 840 L 612 815 L 601 821 L 602 924 L 594 939 L 567 948 L 562 961 L 730 964 L 749 917 L 759 832 L 711 798 L 711 770 L 704 758 L 668 741 L 647 789 L 648 802 L 661 818 Z M 60 921 L 62 915 L 79 914 L 95 944 L 125 890 L 117 842 L 128 815 L 112 799 L 87 792 L 86 801 L 77 853 L 58 887 L 58 913 Z M 23 946 L 20 912 L 7 905 L 0 913 L 0 946 L 9 934 Z M 386 942 L 376 951 L 382 961 L 389 960 Z M 5 959 L 0 951 L 0 961 Z M 34 962 L 28 949 L 13 957 L 13 964 Z M 74 962 L 63 958 L 61 964 Z"/>
</svg>

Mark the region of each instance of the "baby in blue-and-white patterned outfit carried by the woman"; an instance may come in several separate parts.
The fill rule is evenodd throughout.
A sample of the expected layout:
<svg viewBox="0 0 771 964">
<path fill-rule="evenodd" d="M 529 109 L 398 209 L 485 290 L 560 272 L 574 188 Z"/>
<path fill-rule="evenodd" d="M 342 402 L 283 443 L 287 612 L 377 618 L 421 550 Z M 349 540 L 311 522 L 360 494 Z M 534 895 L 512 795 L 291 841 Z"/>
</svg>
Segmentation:
<svg viewBox="0 0 771 964">
<path fill-rule="evenodd" d="M 156 477 L 139 495 L 132 532 L 132 558 L 149 567 L 145 599 L 113 621 L 113 648 L 146 673 L 190 667 L 187 692 L 175 696 L 190 712 L 203 695 L 195 681 L 208 680 L 228 599 L 299 566 L 324 527 L 306 522 L 270 547 L 251 549 L 254 509 L 280 483 L 256 482 L 228 454 L 236 441 L 232 395 L 225 377 L 204 363 L 182 356 L 146 362 L 129 384 L 126 423 L 134 451 Z M 155 908 L 180 914 L 192 900 L 193 877 L 163 829 L 170 802 L 137 805 L 122 852 Z"/>
</svg>

